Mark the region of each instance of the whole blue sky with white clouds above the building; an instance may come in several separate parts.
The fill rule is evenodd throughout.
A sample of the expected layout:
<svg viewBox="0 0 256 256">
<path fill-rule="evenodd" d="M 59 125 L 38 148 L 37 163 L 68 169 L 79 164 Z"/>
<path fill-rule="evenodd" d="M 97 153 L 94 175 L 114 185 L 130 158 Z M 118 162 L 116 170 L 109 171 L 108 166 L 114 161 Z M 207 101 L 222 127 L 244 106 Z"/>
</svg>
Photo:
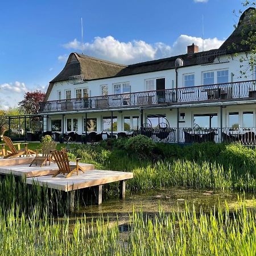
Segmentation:
<svg viewBox="0 0 256 256">
<path fill-rule="evenodd" d="M 46 91 L 71 52 L 122 64 L 218 48 L 242 0 L 13 0 L 0 2 L 0 109 Z M 234 15 L 236 10 L 237 15 Z M 242 9 L 244 10 L 244 9 Z M 203 22 L 204 20 L 204 22 Z"/>
</svg>

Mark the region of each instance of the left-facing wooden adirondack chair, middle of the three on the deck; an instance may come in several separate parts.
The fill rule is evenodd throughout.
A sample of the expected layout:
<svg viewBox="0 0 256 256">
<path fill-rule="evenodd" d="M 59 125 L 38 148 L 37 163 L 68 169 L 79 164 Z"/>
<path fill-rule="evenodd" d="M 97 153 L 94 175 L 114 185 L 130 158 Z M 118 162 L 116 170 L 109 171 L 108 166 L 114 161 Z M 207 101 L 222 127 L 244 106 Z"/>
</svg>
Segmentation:
<svg viewBox="0 0 256 256">
<path fill-rule="evenodd" d="M 32 164 L 35 164 L 36 166 L 39 165 L 40 167 L 43 166 L 43 164 L 47 164 L 47 161 L 49 161 L 49 165 L 51 164 L 51 151 L 55 150 L 57 146 L 57 142 L 55 141 L 46 141 L 43 143 L 42 146 L 42 156 L 38 155 L 38 150 L 36 150 L 36 157 L 33 159 Z"/>
</svg>

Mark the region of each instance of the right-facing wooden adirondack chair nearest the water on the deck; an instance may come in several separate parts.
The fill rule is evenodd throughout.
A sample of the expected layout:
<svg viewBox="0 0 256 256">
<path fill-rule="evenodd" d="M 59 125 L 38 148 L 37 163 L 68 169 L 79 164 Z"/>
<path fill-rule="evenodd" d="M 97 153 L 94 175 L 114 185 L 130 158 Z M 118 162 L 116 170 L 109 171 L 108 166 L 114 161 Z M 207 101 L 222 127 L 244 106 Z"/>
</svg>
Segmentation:
<svg viewBox="0 0 256 256">
<path fill-rule="evenodd" d="M 79 166 L 79 160 L 81 158 L 76 159 L 76 164 L 69 164 L 67 152 L 54 150 L 52 151 L 52 156 L 59 167 L 59 170 L 57 170 L 52 177 L 55 177 L 58 174 L 67 174 L 67 178 L 70 177 L 74 172 L 76 172 L 76 175 L 78 175 L 79 170 L 84 172 L 83 168 Z"/>
</svg>

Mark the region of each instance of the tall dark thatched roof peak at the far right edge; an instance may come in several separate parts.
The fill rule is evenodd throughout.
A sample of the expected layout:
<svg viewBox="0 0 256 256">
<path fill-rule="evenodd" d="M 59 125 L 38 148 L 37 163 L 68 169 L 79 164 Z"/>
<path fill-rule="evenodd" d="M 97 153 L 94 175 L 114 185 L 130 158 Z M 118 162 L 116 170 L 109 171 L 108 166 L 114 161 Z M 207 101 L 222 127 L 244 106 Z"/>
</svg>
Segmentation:
<svg viewBox="0 0 256 256">
<path fill-rule="evenodd" d="M 250 33 L 255 32 L 255 8 L 250 7 L 241 15 L 236 29 L 229 38 L 225 40 L 220 50 L 226 49 L 227 53 L 249 51 L 250 44 L 243 44 L 242 42 L 243 40 L 247 40 Z"/>
</svg>

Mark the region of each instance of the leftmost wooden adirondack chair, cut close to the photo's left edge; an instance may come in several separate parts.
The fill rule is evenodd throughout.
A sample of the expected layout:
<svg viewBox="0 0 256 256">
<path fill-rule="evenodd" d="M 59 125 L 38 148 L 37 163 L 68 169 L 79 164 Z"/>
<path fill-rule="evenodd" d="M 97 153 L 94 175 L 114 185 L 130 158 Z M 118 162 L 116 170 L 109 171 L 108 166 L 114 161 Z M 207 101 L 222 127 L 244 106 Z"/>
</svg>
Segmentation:
<svg viewBox="0 0 256 256">
<path fill-rule="evenodd" d="M 11 139 L 7 136 L 3 136 L 3 141 L 5 142 L 6 146 L 9 147 L 11 152 L 7 151 L 7 154 L 3 156 L 3 158 L 16 158 L 18 156 L 22 156 L 22 155 L 31 155 L 31 154 L 36 154 L 35 151 L 32 151 L 30 149 L 27 148 L 27 144 L 28 143 L 13 143 L 11 141 Z M 24 148 L 20 148 L 20 145 L 24 145 Z M 18 147 L 18 150 L 16 149 L 16 147 Z"/>
</svg>

